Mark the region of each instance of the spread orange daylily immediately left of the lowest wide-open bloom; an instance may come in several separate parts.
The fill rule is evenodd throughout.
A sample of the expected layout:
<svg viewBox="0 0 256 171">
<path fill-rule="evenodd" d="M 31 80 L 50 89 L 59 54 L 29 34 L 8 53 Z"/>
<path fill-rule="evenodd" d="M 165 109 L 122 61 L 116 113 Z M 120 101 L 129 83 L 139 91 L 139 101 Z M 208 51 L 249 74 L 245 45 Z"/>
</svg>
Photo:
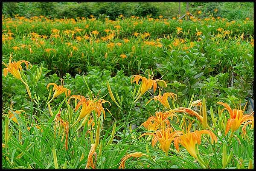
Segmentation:
<svg viewBox="0 0 256 171">
<path fill-rule="evenodd" d="M 172 130 L 172 128 L 166 128 L 164 129 L 160 129 L 158 131 L 156 131 L 154 134 L 150 133 L 150 132 L 146 132 L 143 135 L 152 135 L 152 146 L 154 147 L 154 145 L 157 143 L 157 141 L 159 141 L 160 143 L 160 149 L 162 149 L 164 152 L 166 152 L 166 154 L 168 154 L 168 151 L 170 149 L 171 143 L 173 140 L 175 140 L 175 137 L 179 136 L 179 134 L 182 134 L 181 131 L 174 131 Z M 140 137 L 141 137 L 140 136 Z"/>
</svg>

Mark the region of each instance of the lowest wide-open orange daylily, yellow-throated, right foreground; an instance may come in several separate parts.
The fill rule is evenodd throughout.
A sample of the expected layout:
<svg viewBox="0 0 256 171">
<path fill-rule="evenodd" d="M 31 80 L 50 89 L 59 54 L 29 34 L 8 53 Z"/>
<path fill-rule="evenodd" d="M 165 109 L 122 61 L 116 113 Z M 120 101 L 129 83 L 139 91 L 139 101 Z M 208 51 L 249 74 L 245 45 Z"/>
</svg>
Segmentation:
<svg viewBox="0 0 256 171">
<path fill-rule="evenodd" d="M 211 137 L 211 143 L 215 141 L 217 142 L 217 137 L 214 135 L 213 132 L 209 130 L 200 130 L 200 131 L 195 131 L 191 132 L 190 128 L 192 126 L 192 123 L 189 123 L 189 126 L 186 130 L 186 132 L 183 130 L 183 132 L 179 132 L 179 136 L 175 137 L 174 140 L 174 146 L 179 151 L 179 143 L 186 148 L 186 150 L 189 152 L 189 154 L 196 159 L 198 158 L 196 155 L 196 144 L 200 145 L 201 144 L 201 135 L 202 134 L 208 134 Z"/>
</svg>

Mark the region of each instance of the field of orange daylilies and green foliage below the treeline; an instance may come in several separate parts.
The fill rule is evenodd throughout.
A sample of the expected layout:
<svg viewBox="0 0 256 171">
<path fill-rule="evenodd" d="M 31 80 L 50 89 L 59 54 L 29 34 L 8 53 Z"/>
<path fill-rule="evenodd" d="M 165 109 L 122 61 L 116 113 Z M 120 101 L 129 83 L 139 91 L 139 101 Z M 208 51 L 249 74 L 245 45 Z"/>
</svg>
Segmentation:
<svg viewBox="0 0 256 171">
<path fill-rule="evenodd" d="M 253 20 L 2 25 L 3 168 L 254 168 Z"/>
</svg>

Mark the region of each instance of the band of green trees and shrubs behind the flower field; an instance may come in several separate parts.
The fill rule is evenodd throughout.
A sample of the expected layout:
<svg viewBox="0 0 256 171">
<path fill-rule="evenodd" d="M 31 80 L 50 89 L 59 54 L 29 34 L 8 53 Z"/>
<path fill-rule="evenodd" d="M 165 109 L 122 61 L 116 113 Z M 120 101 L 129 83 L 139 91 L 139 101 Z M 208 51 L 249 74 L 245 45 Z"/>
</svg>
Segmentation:
<svg viewBox="0 0 256 171">
<path fill-rule="evenodd" d="M 218 9 L 218 11 L 214 11 Z M 198 17 L 227 18 L 228 20 L 244 19 L 249 17 L 253 20 L 254 8 L 253 3 L 227 3 L 227 2 L 204 2 L 189 3 L 189 11 L 197 15 L 197 11 L 202 11 Z M 186 3 L 180 3 L 181 15 L 186 12 Z M 139 17 L 158 17 L 163 15 L 165 18 L 176 17 L 179 14 L 179 3 L 160 2 L 160 3 L 71 3 L 71 2 L 5 2 L 2 9 L 3 15 L 13 17 L 15 14 L 24 17 L 33 17 L 44 15 L 50 18 L 76 18 L 76 17 L 107 17 L 115 20 L 120 14 L 125 17 L 132 15 Z M 102 14 L 104 14 L 102 16 Z"/>
</svg>

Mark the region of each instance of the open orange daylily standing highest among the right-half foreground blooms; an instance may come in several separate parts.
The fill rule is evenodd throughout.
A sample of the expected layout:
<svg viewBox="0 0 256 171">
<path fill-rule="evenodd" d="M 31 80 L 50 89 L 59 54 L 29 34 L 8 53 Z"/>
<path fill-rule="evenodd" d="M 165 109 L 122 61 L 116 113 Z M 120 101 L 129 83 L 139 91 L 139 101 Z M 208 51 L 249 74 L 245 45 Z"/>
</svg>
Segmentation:
<svg viewBox="0 0 256 171">
<path fill-rule="evenodd" d="M 157 81 L 161 81 L 163 82 L 164 86 L 167 87 L 167 84 L 165 81 L 157 79 L 157 80 L 153 80 L 153 76 L 150 76 L 148 74 L 148 79 L 140 76 L 140 75 L 134 75 L 131 77 L 131 83 L 132 82 L 136 82 L 136 84 L 139 85 L 139 81 L 140 79 L 142 80 L 142 83 L 140 84 L 140 89 L 138 90 L 138 97 L 141 97 L 144 93 L 146 93 L 147 90 L 151 89 L 153 86 L 153 90 L 154 92 L 157 90 Z"/>
</svg>

